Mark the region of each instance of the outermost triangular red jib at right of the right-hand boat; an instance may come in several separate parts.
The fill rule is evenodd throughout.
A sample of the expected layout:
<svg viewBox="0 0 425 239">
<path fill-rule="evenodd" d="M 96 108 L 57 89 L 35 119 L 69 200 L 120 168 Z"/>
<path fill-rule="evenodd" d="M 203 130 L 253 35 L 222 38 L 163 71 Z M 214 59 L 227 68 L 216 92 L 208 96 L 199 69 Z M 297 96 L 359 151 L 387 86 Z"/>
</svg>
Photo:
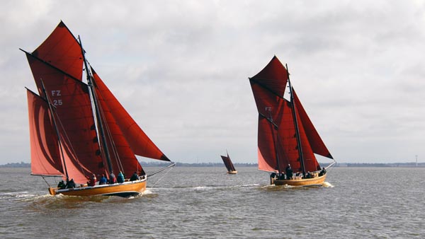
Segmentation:
<svg viewBox="0 0 425 239">
<path fill-rule="evenodd" d="M 293 91 L 293 94 L 295 105 L 297 105 L 297 112 L 300 115 L 300 122 L 302 122 L 302 125 L 305 129 L 305 134 L 307 134 L 307 139 L 310 142 L 310 146 L 312 147 L 313 152 L 327 158 L 332 158 L 331 153 L 329 153 L 329 150 L 324 145 L 322 138 L 320 138 L 319 133 L 312 124 L 310 117 L 308 117 L 307 112 L 305 112 L 304 107 L 302 107 L 300 99 L 298 98 L 295 91 Z"/>
</svg>

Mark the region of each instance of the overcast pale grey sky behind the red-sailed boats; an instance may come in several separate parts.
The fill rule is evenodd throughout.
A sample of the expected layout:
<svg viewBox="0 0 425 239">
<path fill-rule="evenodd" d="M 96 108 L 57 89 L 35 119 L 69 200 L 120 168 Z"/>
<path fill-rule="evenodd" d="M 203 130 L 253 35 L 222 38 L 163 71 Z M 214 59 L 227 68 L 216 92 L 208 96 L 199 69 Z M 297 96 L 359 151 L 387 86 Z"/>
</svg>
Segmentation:
<svg viewBox="0 0 425 239">
<path fill-rule="evenodd" d="M 425 161 L 424 1 L 0 5 L 0 164 L 30 162 L 24 87 L 36 88 L 18 48 L 32 52 L 60 20 L 172 161 L 220 162 L 227 149 L 256 163 L 248 77 L 273 55 L 336 161 Z"/>
</svg>

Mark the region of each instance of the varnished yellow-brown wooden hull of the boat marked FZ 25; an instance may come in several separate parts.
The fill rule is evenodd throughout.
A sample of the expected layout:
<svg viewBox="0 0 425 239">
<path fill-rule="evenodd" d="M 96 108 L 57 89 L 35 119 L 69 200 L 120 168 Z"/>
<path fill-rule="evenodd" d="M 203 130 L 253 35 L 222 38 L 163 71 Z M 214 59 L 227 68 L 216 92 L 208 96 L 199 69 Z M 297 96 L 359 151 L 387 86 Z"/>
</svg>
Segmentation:
<svg viewBox="0 0 425 239">
<path fill-rule="evenodd" d="M 74 187 L 60 190 L 57 187 L 49 187 L 52 195 L 63 194 L 66 196 L 120 196 L 129 197 L 142 193 L 146 190 L 146 179 L 132 182 L 115 183 L 113 185 L 96 185 L 86 187 Z"/>
</svg>

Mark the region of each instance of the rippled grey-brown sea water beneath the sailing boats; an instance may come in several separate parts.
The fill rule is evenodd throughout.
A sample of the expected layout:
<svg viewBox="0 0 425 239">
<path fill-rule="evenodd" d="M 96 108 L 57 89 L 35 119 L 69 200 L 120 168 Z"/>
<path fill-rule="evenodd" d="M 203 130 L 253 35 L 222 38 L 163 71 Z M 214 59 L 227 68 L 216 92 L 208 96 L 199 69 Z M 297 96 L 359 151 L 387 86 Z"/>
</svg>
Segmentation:
<svg viewBox="0 0 425 239">
<path fill-rule="evenodd" d="M 50 196 L 30 168 L 0 168 L 0 238 L 425 238 L 425 168 L 331 168 L 322 187 L 237 170 L 174 167 L 123 198 Z"/>
</svg>

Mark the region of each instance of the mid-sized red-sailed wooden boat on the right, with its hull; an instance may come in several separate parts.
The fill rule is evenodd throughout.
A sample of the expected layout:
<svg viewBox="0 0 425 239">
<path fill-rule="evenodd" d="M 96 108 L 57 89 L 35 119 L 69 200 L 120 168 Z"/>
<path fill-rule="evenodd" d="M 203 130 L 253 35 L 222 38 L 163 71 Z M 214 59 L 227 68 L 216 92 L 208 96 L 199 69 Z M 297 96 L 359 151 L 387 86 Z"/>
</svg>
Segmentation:
<svg viewBox="0 0 425 239">
<path fill-rule="evenodd" d="M 259 112 L 259 170 L 270 172 L 275 185 L 322 185 L 326 170 L 314 153 L 333 158 L 302 107 L 288 69 L 275 56 L 249 81 Z M 284 98 L 287 84 L 290 99 Z"/>
</svg>

